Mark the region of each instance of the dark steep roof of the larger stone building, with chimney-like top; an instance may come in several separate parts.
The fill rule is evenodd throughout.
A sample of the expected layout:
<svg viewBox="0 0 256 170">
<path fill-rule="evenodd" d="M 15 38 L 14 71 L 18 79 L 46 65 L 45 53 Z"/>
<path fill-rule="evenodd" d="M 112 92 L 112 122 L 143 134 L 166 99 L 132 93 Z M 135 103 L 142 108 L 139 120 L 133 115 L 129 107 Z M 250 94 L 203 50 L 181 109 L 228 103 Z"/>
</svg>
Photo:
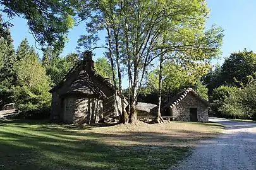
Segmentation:
<svg viewBox="0 0 256 170">
<path fill-rule="evenodd" d="M 102 91 L 102 84 L 104 84 L 111 91 L 115 91 L 114 85 L 109 82 L 109 79 L 104 79 L 101 75 L 97 74 L 94 71 L 92 60 L 92 54 L 90 52 L 85 53 L 85 55 L 90 55 L 90 60 L 84 57 L 83 60 L 78 61 L 78 63 L 66 74 L 59 84 L 54 86 L 49 92 L 54 93 L 64 85 L 64 82 L 68 80 L 69 77 L 78 75 L 70 85 L 70 91 L 67 91 L 67 94 L 71 93 L 80 93 L 86 94 L 87 96 L 95 95 L 98 98 L 106 98 L 106 95 Z"/>
</svg>

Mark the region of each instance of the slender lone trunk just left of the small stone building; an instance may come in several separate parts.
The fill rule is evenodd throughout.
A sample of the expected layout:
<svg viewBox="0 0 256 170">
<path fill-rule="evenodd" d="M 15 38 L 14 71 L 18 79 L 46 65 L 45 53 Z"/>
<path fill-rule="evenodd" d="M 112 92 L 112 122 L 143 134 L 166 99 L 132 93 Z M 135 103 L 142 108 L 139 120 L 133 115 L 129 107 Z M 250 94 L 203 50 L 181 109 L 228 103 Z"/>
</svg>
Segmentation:
<svg viewBox="0 0 256 170">
<path fill-rule="evenodd" d="M 156 116 L 156 122 L 162 123 L 164 120 L 161 116 L 161 99 L 162 99 L 162 61 L 163 56 L 160 55 L 160 68 L 159 68 L 159 88 L 158 88 L 158 108 L 157 108 L 157 116 Z"/>
</svg>

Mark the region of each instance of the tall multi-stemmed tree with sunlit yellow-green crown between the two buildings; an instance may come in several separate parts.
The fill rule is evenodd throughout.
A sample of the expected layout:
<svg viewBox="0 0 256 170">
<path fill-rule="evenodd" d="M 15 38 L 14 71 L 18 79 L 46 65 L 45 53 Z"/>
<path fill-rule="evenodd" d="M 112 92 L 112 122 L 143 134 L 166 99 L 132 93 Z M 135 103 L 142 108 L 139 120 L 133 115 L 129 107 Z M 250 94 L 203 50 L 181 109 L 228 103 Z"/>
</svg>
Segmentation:
<svg viewBox="0 0 256 170">
<path fill-rule="evenodd" d="M 176 56 L 183 62 L 209 60 L 219 52 L 222 29 L 212 27 L 204 31 L 209 13 L 205 1 L 79 1 L 77 6 L 78 16 L 87 22 L 88 32 L 80 42 L 92 48 L 99 40 L 97 33 L 107 31 L 108 46 L 104 48 L 116 63 L 121 96 L 124 74 L 121 68 L 122 65 L 128 68 L 133 106 L 152 60 L 173 54 L 179 54 Z M 131 111 L 130 122 L 135 122 L 136 117 Z"/>
</svg>

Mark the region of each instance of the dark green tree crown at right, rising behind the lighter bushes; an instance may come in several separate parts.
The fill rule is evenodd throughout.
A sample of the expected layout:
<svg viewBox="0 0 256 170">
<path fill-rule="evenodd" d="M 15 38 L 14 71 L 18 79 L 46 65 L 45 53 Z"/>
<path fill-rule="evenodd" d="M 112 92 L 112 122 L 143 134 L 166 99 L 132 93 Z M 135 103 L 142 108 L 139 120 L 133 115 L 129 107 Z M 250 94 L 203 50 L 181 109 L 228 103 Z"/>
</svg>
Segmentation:
<svg viewBox="0 0 256 170">
<path fill-rule="evenodd" d="M 204 77 L 204 83 L 209 88 L 209 96 L 212 90 L 221 85 L 236 86 L 241 88 L 256 77 L 256 54 L 252 51 L 232 53 L 220 67 L 217 65 L 214 71 L 210 71 Z"/>
</svg>

